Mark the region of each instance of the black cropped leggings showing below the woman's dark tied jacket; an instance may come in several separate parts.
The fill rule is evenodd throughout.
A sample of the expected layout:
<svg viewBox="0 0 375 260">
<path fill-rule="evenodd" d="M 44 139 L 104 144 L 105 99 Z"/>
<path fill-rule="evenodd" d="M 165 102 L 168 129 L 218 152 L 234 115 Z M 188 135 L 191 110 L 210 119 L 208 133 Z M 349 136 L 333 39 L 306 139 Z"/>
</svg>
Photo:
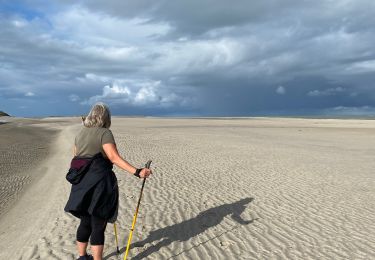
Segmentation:
<svg viewBox="0 0 375 260">
<path fill-rule="evenodd" d="M 107 221 L 94 216 L 82 216 L 77 229 L 77 241 L 87 243 L 90 237 L 91 245 L 104 245 L 104 231 Z"/>
</svg>

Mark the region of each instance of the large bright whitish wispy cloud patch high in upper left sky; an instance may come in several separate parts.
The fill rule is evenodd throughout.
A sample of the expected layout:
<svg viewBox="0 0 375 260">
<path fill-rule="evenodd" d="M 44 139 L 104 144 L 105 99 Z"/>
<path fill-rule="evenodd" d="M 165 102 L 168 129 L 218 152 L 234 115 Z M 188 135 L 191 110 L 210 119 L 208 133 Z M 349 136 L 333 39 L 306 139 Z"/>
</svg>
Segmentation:
<svg viewBox="0 0 375 260">
<path fill-rule="evenodd" d="M 113 17 L 102 11 L 90 12 L 79 5 L 51 15 L 50 21 L 55 38 L 94 46 L 143 45 L 145 39 L 152 40 L 170 30 L 166 23 L 150 23 L 138 17 Z"/>
</svg>

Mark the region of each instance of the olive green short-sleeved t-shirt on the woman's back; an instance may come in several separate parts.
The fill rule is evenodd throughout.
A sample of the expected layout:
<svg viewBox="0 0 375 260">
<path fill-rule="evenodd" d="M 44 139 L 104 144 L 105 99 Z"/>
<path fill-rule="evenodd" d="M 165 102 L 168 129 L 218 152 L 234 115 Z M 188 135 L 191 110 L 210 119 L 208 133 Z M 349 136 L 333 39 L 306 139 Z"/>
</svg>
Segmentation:
<svg viewBox="0 0 375 260">
<path fill-rule="evenodd" d="M 104 157 L 107 157 L 103 150 L 103 144 L 108 143 L 115 144 L 111 130 L 103 127 L 83 126 L 74 140 L 76 155 L 94 156 L 101 152 Z"/>
</svg>

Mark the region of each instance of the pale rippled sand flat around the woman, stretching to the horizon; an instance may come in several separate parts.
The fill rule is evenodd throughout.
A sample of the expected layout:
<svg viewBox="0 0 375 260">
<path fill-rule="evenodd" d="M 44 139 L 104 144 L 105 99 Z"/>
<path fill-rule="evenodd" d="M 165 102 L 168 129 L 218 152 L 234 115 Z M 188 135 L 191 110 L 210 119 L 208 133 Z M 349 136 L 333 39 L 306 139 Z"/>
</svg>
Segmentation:
<svg viewBox="0 0 375 260">
<path fill-rule="evenodd" d="M 0 259 L 74 259 L 78 220 L 64 213 L 78 118 L 0 219 Z M 331 119 L 114 118 L 120 153 L 153 160 L 131 259 L 375 258 L 375 122 Z M 2 126 L 0 126 L 2 127 Z M 141 181 L 115 169 L 123 255 Z M 14 184 L 16 185 L 16 184 Z M 113 226 L 105 259 L 115 254 Z"/>
</svg>

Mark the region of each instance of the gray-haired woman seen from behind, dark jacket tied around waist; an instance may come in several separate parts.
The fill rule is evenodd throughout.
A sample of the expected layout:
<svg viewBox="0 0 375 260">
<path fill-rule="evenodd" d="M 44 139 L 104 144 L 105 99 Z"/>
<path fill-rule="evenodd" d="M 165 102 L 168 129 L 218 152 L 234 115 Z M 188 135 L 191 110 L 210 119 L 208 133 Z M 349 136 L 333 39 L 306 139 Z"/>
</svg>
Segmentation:
<svg viewBox="0 0 375 260">
<path fill-rule="evenodd" d="M 97 103 L 75 138 L 72 165 L 78 162 L 79 169 L 86 167 L 88 170 L 79 183 L 72 185 L 65 211 L 81 220 L 77 229 L 79 260 L 102 259 L 107 222 L 116 220 L 118 187 L 113 164 L 139 178 L 147 178 L 152 173 L 146 168 L 135 168 L 119 155 L 110 126 L 108 107 Z M 93 256 L 86 253 L 89 238 Z"/>
</svg>

